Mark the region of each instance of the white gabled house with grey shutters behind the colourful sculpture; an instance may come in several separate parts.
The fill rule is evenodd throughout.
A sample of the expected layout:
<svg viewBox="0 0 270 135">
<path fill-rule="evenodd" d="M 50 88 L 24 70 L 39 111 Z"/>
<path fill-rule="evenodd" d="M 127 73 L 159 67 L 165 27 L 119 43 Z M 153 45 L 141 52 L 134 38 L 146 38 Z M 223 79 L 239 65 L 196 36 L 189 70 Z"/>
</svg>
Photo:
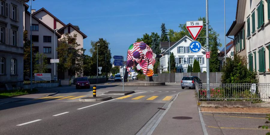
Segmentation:
<svg viewBox="0 0 270 135">
<path fill-rule="evenodd" d="M 202 47 L 202 49 L 198 53 L 193 53 L 189 49 L 189 44 L 194 41 L 193 39 L 189 38 L 188 36 L 184 36 L 177 42 L 173 42 L 170 44 L 170 52 L 174 54 L 175 62 L 176 62 L 176 72 L 177 73 L 186 73 L 187 72 L 187 65 L 192 64 L 193 61 L 196 59 L 199 61 L 201 72 L 206 71 L 206 61 L 205 61 L 205 52 L 206 49 Z M 161 42 L 160 46 L 164 46 L 164 44 L 168 44 L 167 42 Z M 165 72 L 168 69 L 168 61 L 169 61 L 169 48 L 164 50 L 162 47 L 161 49 L 163 52 L 163 56 L 160 58 L 160 73 Z"/>
</svg>

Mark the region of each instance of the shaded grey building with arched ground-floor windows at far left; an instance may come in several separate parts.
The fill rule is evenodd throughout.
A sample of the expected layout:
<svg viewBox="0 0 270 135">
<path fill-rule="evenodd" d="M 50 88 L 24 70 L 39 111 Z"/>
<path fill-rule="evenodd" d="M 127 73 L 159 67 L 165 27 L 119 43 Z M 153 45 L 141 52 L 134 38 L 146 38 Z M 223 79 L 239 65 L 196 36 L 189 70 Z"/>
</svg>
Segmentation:
<svg viewBox="0 0 270 135">
<path fill-rule="evenodd" d="M 23 82 L 23 4 L 29 0 L 0 0 L 0 89 Z"/>
</svg>

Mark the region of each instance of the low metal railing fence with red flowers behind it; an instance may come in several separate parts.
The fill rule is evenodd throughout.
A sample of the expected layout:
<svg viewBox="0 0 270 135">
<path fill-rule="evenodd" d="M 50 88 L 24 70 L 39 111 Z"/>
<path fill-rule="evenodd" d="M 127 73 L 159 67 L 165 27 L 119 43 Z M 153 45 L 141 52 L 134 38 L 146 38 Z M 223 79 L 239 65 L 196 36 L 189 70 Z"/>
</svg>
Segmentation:
<svg viewBox="0 0 270 135">
<path fill-rule="evenodd" d="M 208 93 L 206 88 L 196 83 L 199 101 L 270 102 L 270 83 L 210 84 Z"/>
</svg>

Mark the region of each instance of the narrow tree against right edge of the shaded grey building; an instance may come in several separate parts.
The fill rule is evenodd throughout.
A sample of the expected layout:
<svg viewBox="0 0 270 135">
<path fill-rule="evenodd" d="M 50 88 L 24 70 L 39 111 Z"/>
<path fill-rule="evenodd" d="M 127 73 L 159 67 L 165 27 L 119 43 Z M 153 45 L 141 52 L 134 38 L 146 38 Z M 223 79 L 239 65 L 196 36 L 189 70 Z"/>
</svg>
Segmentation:
<svg viewBox="0 0 270 135">
<path fill-rule="evenodd" d="M 34 62 L 34 50 L 32 44 L 32 65 L 35 64 Z M 31 67 L 31 47 L 30 47 L 30 40 L 28 39 L 28 32 L 27 30 L 23 31 L 23 76 L 24 78 L 28 76 L 30 78 L 30 67 Z"/>
</svg>

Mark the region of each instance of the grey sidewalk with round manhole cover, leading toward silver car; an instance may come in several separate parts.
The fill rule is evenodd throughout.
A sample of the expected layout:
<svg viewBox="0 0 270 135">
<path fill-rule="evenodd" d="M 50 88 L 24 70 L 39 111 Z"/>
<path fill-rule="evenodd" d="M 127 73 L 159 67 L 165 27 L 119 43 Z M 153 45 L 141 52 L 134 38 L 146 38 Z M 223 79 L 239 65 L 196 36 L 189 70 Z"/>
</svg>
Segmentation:
<svg viewBox="0 0 270 135">
<path fill-rule="evenodd" d="M 180 119 L 174 119 L 174 117 Z M 184 91 L 179 94 L 153 132 L 153 135 L 171 134 L 203 134 L 197 101 L 193 90 Z"/>
</svg>

